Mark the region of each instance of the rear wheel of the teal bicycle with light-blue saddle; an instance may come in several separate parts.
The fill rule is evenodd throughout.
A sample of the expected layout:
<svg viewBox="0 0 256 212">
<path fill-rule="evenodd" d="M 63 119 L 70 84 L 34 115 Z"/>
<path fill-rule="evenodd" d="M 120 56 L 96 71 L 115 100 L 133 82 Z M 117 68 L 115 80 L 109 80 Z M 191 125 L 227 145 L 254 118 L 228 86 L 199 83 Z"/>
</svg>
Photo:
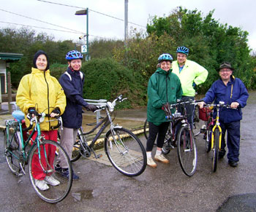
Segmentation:
<svg viewBox="0 0 256 212">
<path fill-rule="evenodd" d="M 20 132 L 14 133 L 13 129 L 7 132 L 6 128 L 4 130 L 4 155 L 8 167 L 16 175 L 20 173 L 20 148 Z"/>
</svg>

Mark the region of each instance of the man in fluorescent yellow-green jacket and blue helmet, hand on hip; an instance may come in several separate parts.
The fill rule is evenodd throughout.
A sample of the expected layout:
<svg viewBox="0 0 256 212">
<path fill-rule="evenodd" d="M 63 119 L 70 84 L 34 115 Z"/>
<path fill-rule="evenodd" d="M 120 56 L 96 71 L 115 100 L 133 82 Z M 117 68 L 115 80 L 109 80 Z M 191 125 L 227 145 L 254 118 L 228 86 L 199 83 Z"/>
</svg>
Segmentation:
<svg viewBox="0 0 256 212">
<path fill-rule="evenodd" d="M 183 91 L 181 100 L 194 100 L 195 85 L 200 85 L 206 81 L 208 71 L 198 63 L 187 59 L 187 56 L 189 55 L 189 49 L 187 47 L 178 47 L 176 52 L 177 60 L 173 61 L 173 73 L 177 74 L 178 78 L 181 80 Z M 189 114 L 189 123 L 192 124 L 194 106 L 187 106 L 187 112 Z"/>
</svg>

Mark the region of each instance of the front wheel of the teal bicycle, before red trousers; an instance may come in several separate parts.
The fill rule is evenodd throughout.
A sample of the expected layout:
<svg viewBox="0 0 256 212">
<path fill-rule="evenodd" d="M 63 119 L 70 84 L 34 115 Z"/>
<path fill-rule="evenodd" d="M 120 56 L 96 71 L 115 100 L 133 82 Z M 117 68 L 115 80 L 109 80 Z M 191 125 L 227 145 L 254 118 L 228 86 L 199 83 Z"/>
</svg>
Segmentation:
<svg viewBox="0 0 256 212">
<path fill-rule="evenodd" d="M 55 141 L 45 140 L 42 141 L 42 144 L 39 146 L 40 156 L 37 145 L 33 147 L 31 150 L 31 154 L 29 154 L 29 176 L 31 180 L 31 184 L 34 187 L 37 195 L 42 200 L 48 203 L 59 203 L 61 200 L 64 200 L 65 197 L 69 194 L 69 191 L 72 187 L 72 165 L 67 155 L 67 152 L 63 149 Z M 67 178 L 61 176 L 61 174 L 55 170 L 57 165 L 57 154 L 55 152 L 59 152 L 67 163 L 67 170 L 69 171 L 69 176 Z M 40 165 L 41 163 L 41 165 Z M 44 171 L 42 170 L 44 169 Z M 51 186 L 48 184 L 49 189 L 42 191 L 35 184 L 35 178 L 42 178 L 43 176 L 53 176 L 57 181 L 60 182 L 57 186 Z"/>
</svg>

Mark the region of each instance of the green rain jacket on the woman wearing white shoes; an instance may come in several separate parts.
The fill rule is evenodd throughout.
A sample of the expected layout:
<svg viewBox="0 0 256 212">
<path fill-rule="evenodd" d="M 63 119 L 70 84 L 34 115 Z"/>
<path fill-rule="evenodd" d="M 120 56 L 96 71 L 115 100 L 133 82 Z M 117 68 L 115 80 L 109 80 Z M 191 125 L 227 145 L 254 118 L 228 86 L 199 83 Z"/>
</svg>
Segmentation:
<svg viewBox="0 0 256 212">
<path fill-rule="evenodd" d="M 162 105 L 167 102 L 176 103 L 176 100 L 181 99 L 181 96 L 182 88 L 178 76 L 172 73 L 172 69 L 164 71 L 162 68 L 157 68 L 157 71 L 152 74 L 148 81 L 148 122 L 153 122 L 154 125 L 167 122 Z"/>
</svg>

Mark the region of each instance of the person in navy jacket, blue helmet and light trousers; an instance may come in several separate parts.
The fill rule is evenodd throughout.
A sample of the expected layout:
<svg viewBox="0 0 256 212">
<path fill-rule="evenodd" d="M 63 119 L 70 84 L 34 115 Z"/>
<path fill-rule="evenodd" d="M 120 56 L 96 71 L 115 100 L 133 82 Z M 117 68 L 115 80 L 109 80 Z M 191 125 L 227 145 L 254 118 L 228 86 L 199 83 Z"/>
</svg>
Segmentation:
<svg viewBox="0 0 256 212">
<path fill-rule="evenodd" d="M 82 107 L 88 111 L 95 111 L 97 106 L 87 103 L 83 99 L 83 82 L 84 76 L 80 71 L 82 66 L 83 55 L 77 50 L 67 52 L 66 55 L 68 68 L 61 75 L 59 83 L 64 89 L 67 98 L 67 106 L 62 114 L 63 130 L 61 130 L 61 146 L 64 147 L 69 157 L 72 157 L 72 147 L 78 134 L 78 128 L 82 125 Z M 59 165 L 56 171 L 59 171 L 62 176 L 68 177 L 69 173 L 64 160 L 61 160 L 61 155 L 58 158 Z M 79 177 L 73 172 L 73 179 Z"/>
</svg>

